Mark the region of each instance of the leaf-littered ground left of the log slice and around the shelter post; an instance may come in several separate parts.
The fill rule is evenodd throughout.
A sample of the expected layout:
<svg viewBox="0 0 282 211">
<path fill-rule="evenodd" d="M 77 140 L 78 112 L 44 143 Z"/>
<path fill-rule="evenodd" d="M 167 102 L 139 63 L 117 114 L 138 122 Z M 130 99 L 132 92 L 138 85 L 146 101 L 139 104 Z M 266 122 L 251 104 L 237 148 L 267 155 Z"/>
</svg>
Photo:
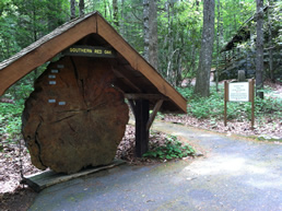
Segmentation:
<svg viewBox="0 0 282 211">
<path fill-rule="evenodd" d="M 163 144 L 164 133 L 150 134 L 151 143 Z M 3 141 L 3 140 L 1 140 Z M 117 159 L 122 159 L 131 165 L 149 165 L 160 161 L 134 157 L 134 127 L 128 125 L 126 134 L 117 150 Z M 36 197 L 36 192 L 21 184 L 21 174 L 27 176 L 43 172 L 32 165 L 24 141 L 3 142 L 0 151 L 0 210 L 25 211 Z"/>
</svg>

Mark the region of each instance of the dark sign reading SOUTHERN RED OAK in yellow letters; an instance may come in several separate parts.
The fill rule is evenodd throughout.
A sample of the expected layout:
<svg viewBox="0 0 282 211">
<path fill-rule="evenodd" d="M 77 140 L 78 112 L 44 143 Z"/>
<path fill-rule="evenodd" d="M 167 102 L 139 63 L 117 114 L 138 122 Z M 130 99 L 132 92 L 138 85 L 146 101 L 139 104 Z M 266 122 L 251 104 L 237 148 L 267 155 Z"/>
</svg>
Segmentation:
<svg viewBox="0 0 282 211">
<path fill-rule="evenodd" d="M 101 57 L 115 58 L 114 48 L 104 48 L 101 46 L 71 46 L 62 51 L 64 56 L 82 56 L 82 57 Z"/>
</svg>

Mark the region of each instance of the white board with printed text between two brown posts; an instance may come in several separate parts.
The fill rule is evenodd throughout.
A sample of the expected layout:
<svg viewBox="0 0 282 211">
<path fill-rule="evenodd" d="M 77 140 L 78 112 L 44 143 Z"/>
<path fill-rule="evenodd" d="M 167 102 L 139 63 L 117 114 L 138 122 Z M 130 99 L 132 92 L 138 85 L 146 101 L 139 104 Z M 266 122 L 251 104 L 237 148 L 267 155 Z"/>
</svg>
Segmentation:
<svg viewBox="0 0 282 211">
<path fill-rule="evenodd" d="M 248 82 L 230 83 L 228 99 L 230 102 L 248 102 L 249 83 Z"/>
</svg>

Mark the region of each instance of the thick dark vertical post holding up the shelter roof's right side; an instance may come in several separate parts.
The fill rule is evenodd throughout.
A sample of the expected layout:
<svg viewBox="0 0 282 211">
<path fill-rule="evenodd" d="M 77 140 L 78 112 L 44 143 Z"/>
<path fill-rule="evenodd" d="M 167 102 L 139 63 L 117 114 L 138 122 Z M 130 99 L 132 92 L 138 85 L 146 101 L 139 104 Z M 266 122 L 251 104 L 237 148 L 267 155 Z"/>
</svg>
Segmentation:
<svg viewBox="0 0 282 211">
<path fill-rule="evenodd" d="M 146 124 L 149 120 L 149 101 L 136 101 L 136 155 L 141 157 L 148 152 L 149 130 Z"/>
</svg>

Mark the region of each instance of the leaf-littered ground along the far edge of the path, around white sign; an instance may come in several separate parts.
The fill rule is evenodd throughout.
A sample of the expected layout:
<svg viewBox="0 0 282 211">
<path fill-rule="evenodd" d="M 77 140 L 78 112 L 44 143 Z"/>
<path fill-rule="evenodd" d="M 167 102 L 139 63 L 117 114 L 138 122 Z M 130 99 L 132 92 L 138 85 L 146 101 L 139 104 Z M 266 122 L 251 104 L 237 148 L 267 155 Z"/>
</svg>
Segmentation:
<svg viewBox="0 0 282 211">
<path fill-rule="evenodd" d="M 211 82 L 214 85 L 214 82 Z M 220 82 L 223 83 L 223 82 Z M 271 87 L 271 93 L 266 93 L 266 96 L 282 99 L 282 83 L 272 83 L 266 81 L 265 86 Z M 281 110 L 282 112 L 282 110 Z M 227 126 L 224 126 L 224 121 L 218 119 L 196 118 L 190 114 L 187 115 L 164 115 L 160 117 L 161 120 L 181 124 L 185 126 L 196 127 L 200 129 L 207 129 L 216 132 L 224 132 L 228 136 L 240 134 L 258 140 L 278 141 L 282 139 L 282 120 L 281 118 L 267 115 L 261 117 L 255 116 L 254 130 L 250 127 L 250 120 L 248 119 L 232 119 L 227 120 Z"/>
</svg>

